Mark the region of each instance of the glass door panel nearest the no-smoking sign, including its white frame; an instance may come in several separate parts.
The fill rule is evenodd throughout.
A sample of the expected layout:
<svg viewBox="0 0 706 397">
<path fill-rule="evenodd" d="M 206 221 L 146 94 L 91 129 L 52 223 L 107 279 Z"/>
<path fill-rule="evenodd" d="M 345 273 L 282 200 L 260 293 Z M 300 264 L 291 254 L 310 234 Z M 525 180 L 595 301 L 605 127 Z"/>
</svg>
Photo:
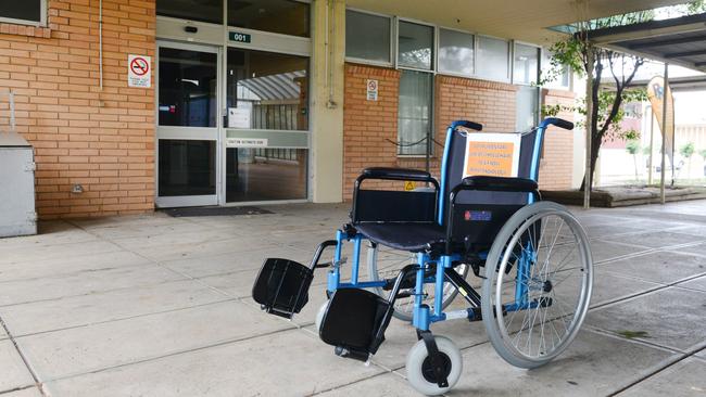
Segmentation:
<svg viewBox="0 0 706 397">
<path fill-rule="evenodd" d="M 216 47 L 157 43 L 156 205 L 218 204 Z"/>
</svg>

